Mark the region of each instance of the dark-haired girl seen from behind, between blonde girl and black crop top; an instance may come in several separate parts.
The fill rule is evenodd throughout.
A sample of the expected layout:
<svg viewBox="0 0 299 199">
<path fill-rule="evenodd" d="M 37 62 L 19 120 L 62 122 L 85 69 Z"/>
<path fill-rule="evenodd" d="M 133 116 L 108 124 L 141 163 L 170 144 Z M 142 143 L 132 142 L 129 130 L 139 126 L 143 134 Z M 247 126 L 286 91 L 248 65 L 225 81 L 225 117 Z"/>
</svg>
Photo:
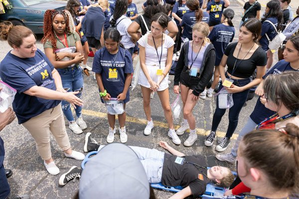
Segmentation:
<svg viewBox="0 0 299 199">
<path fill-rule="evenodd" d="M 235 12 L 232 9 L 225 9 L 222 17 L 221 24 L 215 25 L 209 34 L 209 39 L 216 49 L 215 71 L 214 80 L 210 89 L 204 91 L 201 95 L 201 99 L 206 98 L 206 94 L 209 98 L 212 98 L 212 93 L 219 81 L 219 64 L 224 54 L 224 49 L 229 42 L 232 42 L 235 36 L 235 28 L 232 22 Z"/>
</svg>

